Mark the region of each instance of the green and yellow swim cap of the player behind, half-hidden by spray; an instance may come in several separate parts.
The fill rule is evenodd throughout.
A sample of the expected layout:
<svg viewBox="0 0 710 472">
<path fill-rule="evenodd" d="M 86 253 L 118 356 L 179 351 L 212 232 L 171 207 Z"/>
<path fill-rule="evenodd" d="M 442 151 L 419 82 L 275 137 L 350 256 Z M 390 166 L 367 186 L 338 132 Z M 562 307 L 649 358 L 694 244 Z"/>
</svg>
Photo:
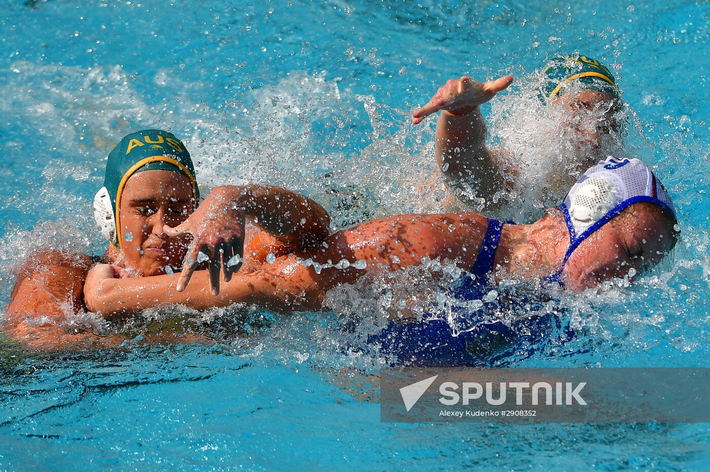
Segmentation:
<svg viewBox="0 0 710 472">
<path fill-rule="evenodd" d="M 564 93 L 564 86 L 575 80 L 584 84 L 584 89 L 606 92 L 613 97 L 619 97 L 616 79 L 596 59 L 583 55 L 557 57 L 543 71 L 544 82 L 540 86 L 542 97 L 558 97 Z"/>
</svg>

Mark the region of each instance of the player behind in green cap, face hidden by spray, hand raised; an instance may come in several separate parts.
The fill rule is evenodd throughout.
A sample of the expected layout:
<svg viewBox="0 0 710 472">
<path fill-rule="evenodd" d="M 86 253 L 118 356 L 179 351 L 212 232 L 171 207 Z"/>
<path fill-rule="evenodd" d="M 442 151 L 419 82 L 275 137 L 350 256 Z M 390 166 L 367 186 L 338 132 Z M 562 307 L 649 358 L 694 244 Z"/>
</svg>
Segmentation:
<svg viewBox="0 0 710 472">
<path fill-rule="evenodd" d="M 611 72 L 591 57 L 559 57 L 552 60 L 540 75 L 540 99 L 545 104 L 564 107 L 564 114 L 559 117 L 562 121 L 559 129 L 550 131 L 558 135 L 556 138 L 564 135 L 564 140 L 572 144 L 574 155 L 564 160 L 572 161 L 571 168 L 555 172 L 554 178 L 550 179 L 554 182 L 539 182 L 539 185 L 564 191 L 584 169 L 608 154 L 618 155 L 618 142 L 607 138 L 618 133 L 621 98 Z M 486 146 L 488 130 L 479 106 L 512 82 L 511 75 L 489 82 L 477 82 L 471 77 L 450 79 L 413 114 L 413 124 L 419 124 L 430 114 L 441 111 L 435 148 L 444 182 L 467 204 L 474 203 L 469 192 L 474 189 L 476 197 L 485 200 L 483 208 L 486 210 L 498 209 L 504 201 L 500 198 L 501 192 L 514 188 L 517 169 L 510 149 L 488 149 Z M 531 126 L 535 129 L 527 130 L 529 133 L 542 133 L 536 123 Z M 602 146 L 605 140 L 612 141 L 611 145 Z M 555 163 L 555 166 L 564 165 L 564 161 Z M 546 190 L 545 193 L 550 192 Z M 557 201 L 561 196 L 559 193 L 552 192 L 546 200 Z"/>
</svg>

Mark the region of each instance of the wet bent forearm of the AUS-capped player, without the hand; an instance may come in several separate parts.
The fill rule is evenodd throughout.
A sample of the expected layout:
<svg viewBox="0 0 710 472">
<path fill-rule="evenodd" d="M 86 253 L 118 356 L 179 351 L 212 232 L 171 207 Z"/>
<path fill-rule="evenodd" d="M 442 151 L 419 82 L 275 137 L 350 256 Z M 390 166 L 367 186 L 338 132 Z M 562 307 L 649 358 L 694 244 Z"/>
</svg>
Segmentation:
<svg viewBox="0 0 710 472">
<path fill-rule="evenodd" d="M 271 185 L 225 185 L 214 191 L 244 208 L 254 224 L 275 236 L 297 235 L 303 246 L 310 246 L 329 234 L 328 212 L 302 194 Z"/>
</svg>

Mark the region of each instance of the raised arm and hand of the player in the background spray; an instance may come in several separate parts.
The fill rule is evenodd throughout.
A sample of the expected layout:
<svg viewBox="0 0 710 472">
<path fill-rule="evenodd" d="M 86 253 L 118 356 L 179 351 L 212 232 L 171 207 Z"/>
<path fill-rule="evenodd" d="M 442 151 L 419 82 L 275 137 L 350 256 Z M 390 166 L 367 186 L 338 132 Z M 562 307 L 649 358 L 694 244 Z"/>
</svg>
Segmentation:
<svg viewBox="0 0 710 472">
<path fill-rule="evenodd" d="M 513 82 L 512 75 L 477 82 L 471 77 L 450 79 L 432 99 L 413 114 L 413 124 L 441 111 L 436 131 L 436 156 L 449 187 L 461 190 L 474 185 L 479 197 L 490 201 L 502 188 L 498 150 L 486 148 L 488 130 L 479 106 Z M 460 192 L 457 192 L 460 193 Z"/>
</svg>

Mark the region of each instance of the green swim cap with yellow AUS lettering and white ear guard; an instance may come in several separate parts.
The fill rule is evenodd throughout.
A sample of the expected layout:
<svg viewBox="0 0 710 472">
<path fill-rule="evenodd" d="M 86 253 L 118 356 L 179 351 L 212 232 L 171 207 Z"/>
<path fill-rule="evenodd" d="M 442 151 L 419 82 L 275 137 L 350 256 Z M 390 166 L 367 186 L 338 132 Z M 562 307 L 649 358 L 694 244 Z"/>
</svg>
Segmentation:
<svg viewBox="0 0 710 472">
<path fill-rule="evenodd" d="M 195 207 L 200 199 L 190 153 L 173 133 L 146 129 L 124 136 L 109 153 L 104 188 L 94 197 L 94 216 L 102 234 L 109 241 L 118 241 L 121 250 L 123 241 L 118 224 L 121 193 L 131 175 L 144 170 L 172 170 L 185 175 L 190 179 L 195 192 Z"/>
</svg>

